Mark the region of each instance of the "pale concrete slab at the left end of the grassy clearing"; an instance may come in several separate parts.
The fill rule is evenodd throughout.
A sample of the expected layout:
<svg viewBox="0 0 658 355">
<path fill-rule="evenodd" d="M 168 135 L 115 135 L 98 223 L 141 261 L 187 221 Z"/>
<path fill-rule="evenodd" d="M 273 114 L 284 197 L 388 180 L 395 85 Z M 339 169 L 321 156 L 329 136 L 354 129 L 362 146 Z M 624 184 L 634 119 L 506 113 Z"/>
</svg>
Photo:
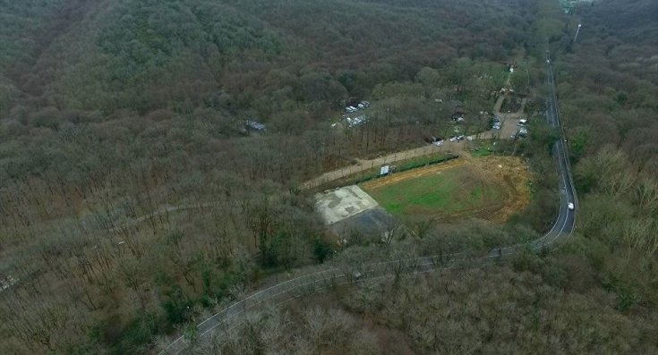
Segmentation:
<svg viewBox="0 0 658 355">
<path fill-rule="evenodd" d="M 325 224 L 335 224 L 378 206 L 377 201 L 356 185 L 318 193 L 315 201 Z"/>
</svg>

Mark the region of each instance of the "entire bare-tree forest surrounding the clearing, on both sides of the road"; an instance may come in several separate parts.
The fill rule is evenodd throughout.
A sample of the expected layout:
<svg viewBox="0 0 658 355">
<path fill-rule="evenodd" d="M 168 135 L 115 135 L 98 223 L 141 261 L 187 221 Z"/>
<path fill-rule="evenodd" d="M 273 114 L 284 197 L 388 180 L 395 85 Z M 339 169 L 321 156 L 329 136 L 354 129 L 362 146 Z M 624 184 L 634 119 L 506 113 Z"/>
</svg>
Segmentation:
<svg viewBox="0 0 658 355">
<path fill-rule="evenodd" d="M 200 351 L 655 352 L 658 4 L 576 10 L 557 0 L 0 0 L 0 351 L 151 351 L 272 275 L 389 258 L 391 246 L 366 240 L 329 260 L 333 242 L 299 183 L 445 134 L 438 100 L 491 111 L 508 63 L 524 73 L 510 85 L 541 117 L 548 45 L 581 199 L 567 245 L 266 309 Z M 368 124 L 330 129 L 363 99 Z M 534 132 L 499 146 L 539 176 L 526 211 L 502 226 L 434 226 L 396 247 L 479 250 L 543 232 L 556 136 Z"/>
</svg>

